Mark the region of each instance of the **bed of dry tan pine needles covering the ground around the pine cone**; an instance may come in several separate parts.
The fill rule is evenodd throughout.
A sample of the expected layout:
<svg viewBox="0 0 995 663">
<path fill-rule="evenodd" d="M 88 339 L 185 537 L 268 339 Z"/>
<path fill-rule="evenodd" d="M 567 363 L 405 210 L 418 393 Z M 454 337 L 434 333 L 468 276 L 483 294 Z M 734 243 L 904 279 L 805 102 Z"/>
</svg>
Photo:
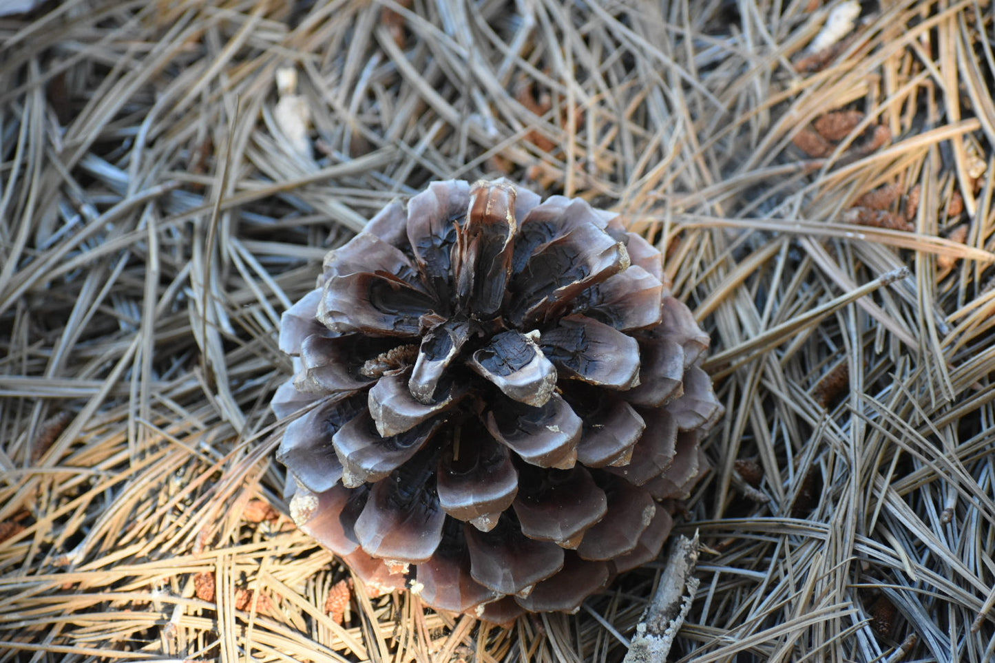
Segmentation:
<svg viewBox="0 0 995 663">
<path fill-rule="evenodd" d="M 370 595 L 282 497 L 281 313 L 390 200 L 497 176 L 619 211 L 712 334 L 727 415 L 679 528 L 701 582 L 671 660 L 993 660 L 992 17 L 0 16 L 0 663 L 621 660 L 660 563 L 505 630 Z"/>
</svg>

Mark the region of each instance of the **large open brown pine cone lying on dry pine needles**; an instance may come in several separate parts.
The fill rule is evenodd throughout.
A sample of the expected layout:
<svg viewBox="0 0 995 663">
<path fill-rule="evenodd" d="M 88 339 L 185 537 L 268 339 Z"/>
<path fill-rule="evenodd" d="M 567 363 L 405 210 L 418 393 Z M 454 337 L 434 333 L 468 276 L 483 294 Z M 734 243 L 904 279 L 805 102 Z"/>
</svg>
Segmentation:
<svg viewBox="0 0 995 663">
<path fill-rule="evenodd" d="M 662 258 L 613 214 L 433 182 L 284 314 L 298 526 L 379 589 L 507 622 L 655 558 L 721 413 Z"/>
</svg>

